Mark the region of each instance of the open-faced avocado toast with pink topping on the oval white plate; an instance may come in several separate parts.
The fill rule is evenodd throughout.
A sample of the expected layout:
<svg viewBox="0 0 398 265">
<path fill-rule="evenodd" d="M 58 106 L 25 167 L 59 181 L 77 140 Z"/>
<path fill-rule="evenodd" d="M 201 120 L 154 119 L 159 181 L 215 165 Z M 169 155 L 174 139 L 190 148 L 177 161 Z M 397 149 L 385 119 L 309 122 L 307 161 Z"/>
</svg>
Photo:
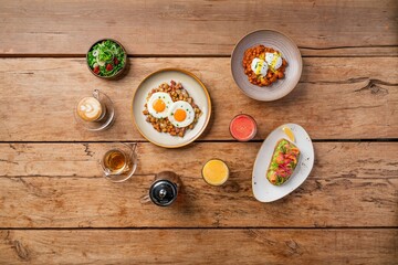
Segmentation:
<svg viewBox="0 0 398 265">
<path fill-rule="evenodd" d="M 286 139 L 276 142 L 266 179 L 274 186 L 281 186 L 292 177 L 300 157 L 298 148 Z"/>
</svg>

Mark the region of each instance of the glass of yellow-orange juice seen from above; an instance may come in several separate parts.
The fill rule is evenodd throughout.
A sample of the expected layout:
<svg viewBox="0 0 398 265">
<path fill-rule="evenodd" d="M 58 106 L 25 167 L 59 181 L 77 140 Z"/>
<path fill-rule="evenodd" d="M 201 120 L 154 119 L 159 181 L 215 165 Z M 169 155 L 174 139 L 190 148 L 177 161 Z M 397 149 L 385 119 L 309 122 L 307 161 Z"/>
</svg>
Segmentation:
<svg viewBox="0 0 398 265">
<path fill-rule="evenodd" d="M 221 186 L 228 180 L 228 166 L 220 159 L 211 159 L 205 163 L 202 177 L 208 184 Z"/>
</svg>

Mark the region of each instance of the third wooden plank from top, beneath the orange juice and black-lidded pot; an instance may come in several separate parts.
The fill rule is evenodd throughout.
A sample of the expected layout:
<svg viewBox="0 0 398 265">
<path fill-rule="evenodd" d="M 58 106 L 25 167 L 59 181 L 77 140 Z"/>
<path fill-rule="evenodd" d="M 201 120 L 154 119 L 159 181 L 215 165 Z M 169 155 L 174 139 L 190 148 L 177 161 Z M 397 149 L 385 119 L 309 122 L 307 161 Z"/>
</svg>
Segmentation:
<svg viewBox="0 0 398 265">
<path fill-rule="evenodd" d="M 292 194 L 255 201 L 252 166 L 260 142 L 208 142 L 169 150 L 138 145 L 137 176 L 112 183 L 96 159 L 106 144 L 0 145 L 0 227 L 331 227 L 396 226 L 398 142 L 315 144 L 314 170 Z M 202 165 L 223 159 L 230 180 L 201 179 Z M 176 203 L 143 199 L 161 170 L 181 177 Z M 360 214 L 358 214 L 360 212 Z"/>
</svg>

